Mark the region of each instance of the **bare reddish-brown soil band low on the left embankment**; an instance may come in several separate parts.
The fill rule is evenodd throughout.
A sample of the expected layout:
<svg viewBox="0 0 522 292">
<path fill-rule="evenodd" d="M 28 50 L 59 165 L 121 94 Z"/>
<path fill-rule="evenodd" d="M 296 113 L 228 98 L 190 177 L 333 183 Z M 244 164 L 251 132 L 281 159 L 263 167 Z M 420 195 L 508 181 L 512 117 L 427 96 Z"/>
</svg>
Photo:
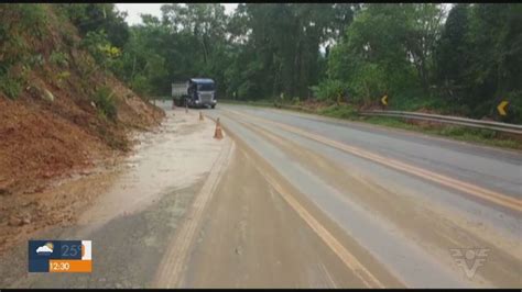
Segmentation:
<svg viewBox="0 0 522 292">
<path fill-rule="evenodd" d="M 0 97 L 0 195 L 35 192 L 44 182 L 129 149 L 131 128 L 157 124 L 163 113 L 135 96 L 123 98 L 118 122 L 56 91 L 50 103 Z"/>
</svg>

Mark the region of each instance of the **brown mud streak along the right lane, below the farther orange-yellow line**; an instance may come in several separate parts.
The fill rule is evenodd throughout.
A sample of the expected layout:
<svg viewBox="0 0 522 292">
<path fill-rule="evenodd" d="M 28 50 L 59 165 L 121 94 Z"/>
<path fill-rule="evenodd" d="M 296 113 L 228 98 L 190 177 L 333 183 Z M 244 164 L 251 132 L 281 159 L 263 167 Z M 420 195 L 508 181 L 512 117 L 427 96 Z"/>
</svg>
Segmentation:
<svg viewBox="0 0 522 292">
<path fill-rule="evenodd" d="M 358 175 L 357 169 L 341 167 L 263 126 L 241 124 L 283 149 L 292 161 L 314 171 L 329 186 L 350 190 L 356 194 L 352 199 L 400 226 L 402 233 L 424 246 L 455 274 L 463 273 L 447 251 L 448 247 L 488 246 L 494 249 L 494 255 L 488 258 L 488 266 L 477 272 L 474 284 L 513 287 L 520 283 L 518 270 L 521 256 L 516 238 L 500 234 L 491 226 L 474 223 L 432 202 L 415 201 L 412 190 L 382 186 L 369 177 Z"/>
</svg>

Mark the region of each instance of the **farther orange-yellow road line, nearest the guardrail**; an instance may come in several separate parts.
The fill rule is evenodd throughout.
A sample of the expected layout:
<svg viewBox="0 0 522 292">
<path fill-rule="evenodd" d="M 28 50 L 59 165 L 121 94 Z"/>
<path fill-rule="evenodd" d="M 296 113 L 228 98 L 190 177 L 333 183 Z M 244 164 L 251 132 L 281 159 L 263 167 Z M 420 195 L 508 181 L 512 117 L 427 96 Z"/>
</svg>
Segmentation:
<svg viewBox="0 0 522 292">
<path fill-rule="evenodd" d="M 239 113 L 239 112 L 233 111 L 233 110 L 225 110 L 225 111 L 228 111 L 230 113 L 243 116 L 246 119 L 253 119 L 253 120 L 258 120 L 259 122 L 272 124 L 272 125 L 278 126 L 280 128 L 286 130 L 291 133 L 311 138 L 313 141 L 319 142 L 322 144 L 326 144 L 328 146 L 340 149 L 342 151 L 346 151 L 346 153 L 349 153 L 349 154 L 352 154 L 352 155 L 372 160 L 374 162 L 378 162 L 378 164 L 381 164 L 381 165 L 384 165 L 384 166 L 388 166 L 388 167 L 407 172 L 407 173 L 416 176 L 416 177 L 421 177 L 421 178 L 429 180 L 429 181 L 437 182 L 439 184 L 443 184 L 443 186 L 446 186 L 448 188 L 453 188 L 453 189 L 463 191 L 465 193 L 478 196 L 480 199 L 487 200 L 487 201 L 496 203 L 498 205 L 502 205 L 504 207 L 522 212 L 522 200 L 519 200 L 519 199 L 515 199 L 515 198 L 512 198 L 512 196 L 509 196 L 509 195 L 505 195 L 505 194 L 501 194 L 501 193 L 498 193 L 498 192 L 494 192 L 494 191 L 491 191 L 491 190 L 487 190 L 487 189 L 480 188 L 478 186 L 474 186 L 474 184 L 470 184 L 470 183 L 467 183 L 467 182 L 464 182 L 464 181 L 459 181 L 459 180 L 456 180 L 456 179 L 453 179 L 453 178 L 449 178 L 449 177 L 446 177 L 446 176 L 443 176 L 443 175 L 438 175 L 438 173 L 435 173 L 435 172 L 429 171 L 429 170 L 425 170 L 425 169 L 422 169 L 422 168 L 418 168 L 418 167 L 414 167 L 414 166 L 401 162 L 401 161 L 392 159 L 392 158 L 388 158 L 388 157 L 383 157 L 383 156 L 380 156 L 380 155 L 377 155 L 377 154 L 372 154 L 370 151 L 362 150 L 362 149 L 359 149 L 359 148 L 354 147 L 354 146 L 348 146 L 348 145 L 342 144 L 340 142 L 333 141 L 333 139 L 326 138 L 326 137 L 317 135 L 317 134 L 312 134 L 312 133 L 308 133 L 304 130 L 301 130 L 301 128 L 297 128 L 297 127 L 294 127 L 294 126 L 290 126 L 290 125 L 282 124 L 282 123 L 279 123 L 279 122 L 273 122 L 273 121 L 270 121 L 270 120 L 267 120 L 267 119 L 263 119 L 263 117 L 246 115 L 246 114 Z"/>
</svg>

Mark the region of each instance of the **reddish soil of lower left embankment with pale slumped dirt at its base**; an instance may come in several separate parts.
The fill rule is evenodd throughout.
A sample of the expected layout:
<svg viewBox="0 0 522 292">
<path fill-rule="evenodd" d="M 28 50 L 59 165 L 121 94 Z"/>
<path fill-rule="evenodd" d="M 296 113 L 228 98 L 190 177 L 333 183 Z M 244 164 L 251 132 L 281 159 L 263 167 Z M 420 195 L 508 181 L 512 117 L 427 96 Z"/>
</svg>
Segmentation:
<svg viewBox="0 0 522 292">
<path fill-rule="evenodd" d="M 0 97 L 0 252 L 35 231 L 73 222 L 111 183 L 111 169 L 139 133 L 132 128 L 150 131 L 163 117 L 135 96 L 120 102 L 121 122 L 111 123 L 66 97 L 53 104 Z"/>
</svg>

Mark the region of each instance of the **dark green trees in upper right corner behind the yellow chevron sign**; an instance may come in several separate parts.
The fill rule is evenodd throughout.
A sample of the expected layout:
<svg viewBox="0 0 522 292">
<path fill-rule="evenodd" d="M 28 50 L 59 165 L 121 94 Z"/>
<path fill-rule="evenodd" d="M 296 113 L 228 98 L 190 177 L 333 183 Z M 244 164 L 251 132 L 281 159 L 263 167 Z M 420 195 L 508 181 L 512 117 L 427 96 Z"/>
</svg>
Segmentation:
<svg viewBox="0 0 522 292">
<path fill-rule="evenodd" d="M 496 116 L 522 90 L 522 5 L 457 4 L 448 14 L 437 54 L 441 98 L 464 104 L 472 117 Z M 512 108 L 520 112 L 519 105 Z M 516 114 L 510 121 L 522 122 Z"/>
</svg>

